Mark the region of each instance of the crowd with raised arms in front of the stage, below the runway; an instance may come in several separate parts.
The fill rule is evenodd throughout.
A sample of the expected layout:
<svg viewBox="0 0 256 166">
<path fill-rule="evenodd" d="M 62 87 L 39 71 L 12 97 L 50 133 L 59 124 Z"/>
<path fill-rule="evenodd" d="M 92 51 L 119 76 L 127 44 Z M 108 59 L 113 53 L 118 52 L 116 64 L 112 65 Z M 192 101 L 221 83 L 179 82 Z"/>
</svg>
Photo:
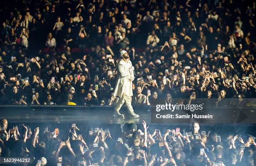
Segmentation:
<svg viewBox="0 0 256 166">
<path fill-rule="evenodd" d="M 255 137 L 244 126 L 226 131 L 197 122 L 174 128 L 143 121 L 109 127 L 73 123 L 42 129 L 2 119 L 0 157 L 28 157 L 36 166 L 254 166 L 256 161 Z"/>
</svg>

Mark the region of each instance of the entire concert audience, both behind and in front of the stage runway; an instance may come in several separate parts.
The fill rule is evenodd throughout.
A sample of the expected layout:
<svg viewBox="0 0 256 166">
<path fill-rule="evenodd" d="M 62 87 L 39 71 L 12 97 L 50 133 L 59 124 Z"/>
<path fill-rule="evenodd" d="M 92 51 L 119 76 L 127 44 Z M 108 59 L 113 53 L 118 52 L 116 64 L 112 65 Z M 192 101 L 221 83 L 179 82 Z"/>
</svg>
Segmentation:
<svg viewBox="0 0 256 166">
<path fill-rule="evenodd" d="M 3 1 L 0 105 L 114 105 L 121 50 L 135 68 L 133 105 L 240 104 L 256 96 L 255 8 L 255 0 Z M 31 157 L 37 166 L 253 166 L 256 159 L 245 130 L 197 122 L 0 123 L 0 157 Z"/>
</svg>

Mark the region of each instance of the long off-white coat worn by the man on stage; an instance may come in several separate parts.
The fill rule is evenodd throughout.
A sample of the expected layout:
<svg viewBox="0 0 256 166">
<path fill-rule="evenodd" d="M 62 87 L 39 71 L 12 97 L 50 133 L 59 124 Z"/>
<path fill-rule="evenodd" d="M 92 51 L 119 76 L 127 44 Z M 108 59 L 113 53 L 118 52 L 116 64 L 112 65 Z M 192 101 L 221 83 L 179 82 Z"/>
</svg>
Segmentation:
<svg viewBox="0 0 256 166">
<path fill-rule="evenodd" d="M 129 71 L 129 69 L 132 67 L 132 63 L 130 60 L 127 61 L 128 64 L 126 64 L 126 62 L 121 59 L 118 64 L 117 64 L 117 79 L 115 82 L 115 90 L 114 90 L 114 96 L 115 97 L 122 97 L 123 92 L 124 92 L 124 84 L 128 83 L 131 84 L 130 89 L 129 89 L 129 94 L 127 94 L 128 96 L 133 96 L 133 89 L 132 89 L 132 81 L 127 81 L 128 79 L 132 78 L 132 80 L 134 80 L 134 74 L 133 71 Z"/>
</svg>

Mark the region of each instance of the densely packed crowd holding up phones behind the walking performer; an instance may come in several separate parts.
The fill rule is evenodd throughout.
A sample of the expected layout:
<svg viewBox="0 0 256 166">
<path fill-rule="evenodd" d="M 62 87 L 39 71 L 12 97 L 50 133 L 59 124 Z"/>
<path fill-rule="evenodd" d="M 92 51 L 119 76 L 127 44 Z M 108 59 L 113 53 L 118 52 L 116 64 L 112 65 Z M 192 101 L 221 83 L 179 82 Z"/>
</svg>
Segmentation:
<svg viewBox="0 0 256 166">
<path fill-rule="evenodd" d="M 120 50 L 133 105 L 256 96 L 254 0 L 3 3 L 1 105 L 113 105 Z"/>
</svg>

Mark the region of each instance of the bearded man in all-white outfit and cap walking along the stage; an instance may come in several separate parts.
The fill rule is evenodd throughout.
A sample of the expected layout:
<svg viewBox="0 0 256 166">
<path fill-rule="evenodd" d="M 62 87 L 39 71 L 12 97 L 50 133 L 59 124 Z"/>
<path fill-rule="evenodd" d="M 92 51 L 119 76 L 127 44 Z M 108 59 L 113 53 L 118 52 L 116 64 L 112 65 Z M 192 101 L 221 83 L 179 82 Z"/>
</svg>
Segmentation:
<svg viewBox="0 0 256 166">
<path fill-rule="evenodd" d="M 125 103 L 126 107 L 131 114 L 131 117 L 138 118 L 131 105 L 131 96 L 133 96 L 132 82 L 134 80 L 134 67 L 129 60 L 129 55 L 125 50 L 120 52 L 121 59 L 117 64 L 117 80 L 115 83 L 114 97 L 119 97 L 118 102 L 115 104 L 114 117 L 124 118 L 123 114 L 119 113 L 120 108 Z"/>
</svg>

